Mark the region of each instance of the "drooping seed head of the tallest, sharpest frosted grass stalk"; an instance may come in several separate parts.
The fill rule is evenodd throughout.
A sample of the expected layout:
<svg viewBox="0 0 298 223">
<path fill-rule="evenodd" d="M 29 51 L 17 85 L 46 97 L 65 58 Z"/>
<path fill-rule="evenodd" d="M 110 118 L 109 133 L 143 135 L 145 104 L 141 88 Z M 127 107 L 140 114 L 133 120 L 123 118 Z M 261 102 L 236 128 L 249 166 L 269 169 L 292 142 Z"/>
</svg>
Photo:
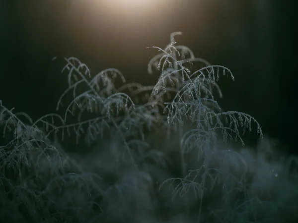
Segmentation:
<svg viewBox="0 0 298 223">
<path fill-rule="evenodd" d="M 171 34 L 171 43 L 167 45 L 165 50 L 162 50 L 158 47 L 153 47 L 161 51 L 162 53 L 156 57 L 153 57 L 149 62 L 149 71 L 154 61 L 159 59 L 157 63 L 157 69 L 161 69 L 161 75 L 158 80 L 158 83 L 155 85 L 151 96 L 157 94 L 160 90 L 160 86 L 163 91 L 166 91 L 166 82 L 168 80 L 171 84 L 174 84 L 173 77 L 176 80 L 181 80 L 181 83 L 177 81 L 176 85 L 176 95 L 171 103 L 165 103 L 165 111 L 168 111 L 168 124 L 176 124 L 177 122 L 183 124 L 185 120 L 190 119 L 192 122 L 196 122 L 196 128 L 204 129 L 204 131 L 212 132 L 215 129 L 222 128 L 224 133 L 224 139 L 227 138 L 227 128 L 224 127 L 223 122 L 221 121 L 220 116 L 226 115 L 231 121 L 229 123 L 229 128 L 233 125 L 232 133 L 235 133 L 235 139 L 240 138 L 238 126 L 241 126 L 244 130 L 249 128 L 251 131 L 251 122 L 256 122 L 251 116 L 236 111 L 223 112 L 219 107 L 218 103 L 214 99 L 213 87 L 218 89 L 220 96 L 222 92 L 217 85 L 216 81 L 219 80 L 220 70 L 223 71 L 223 75 L 228 73 L 232 80 L 234 76 L 231 71 L 220 65 L 210 65 L 205 60 L 206 66 L 192 72 L 186 68 L 181 60 L 178 59 L 178 56 L 183 57 L 183 62 L 188 61 L 185 59 L 185 54 L 180 55 L 178 49 L 184 49 L 185 52 L 191 52 L 188 48 L 175 46 L 176 42 L 174 41 L 175 35 L 181 35 L 180 32 L 175 32 Z M 193 53 L 189 53 L 189 61 L 194 61 L 195 57 Z M 199 59 L 198 59 L 199 60 Z M 163 62 L 162 62 L 163 61 Z M 167 72 L 167 67 L 170 69 L 170 72 Z M 180 76 L 177 76 L 180 75 Z M 245 131 L 244 131 L 245 132 Z M 257 123 L 257 132 L 261 134 L 262 131 L 260 125 Z M 241 141 L 243 143 L 243 141 Z"/>
</svg>

